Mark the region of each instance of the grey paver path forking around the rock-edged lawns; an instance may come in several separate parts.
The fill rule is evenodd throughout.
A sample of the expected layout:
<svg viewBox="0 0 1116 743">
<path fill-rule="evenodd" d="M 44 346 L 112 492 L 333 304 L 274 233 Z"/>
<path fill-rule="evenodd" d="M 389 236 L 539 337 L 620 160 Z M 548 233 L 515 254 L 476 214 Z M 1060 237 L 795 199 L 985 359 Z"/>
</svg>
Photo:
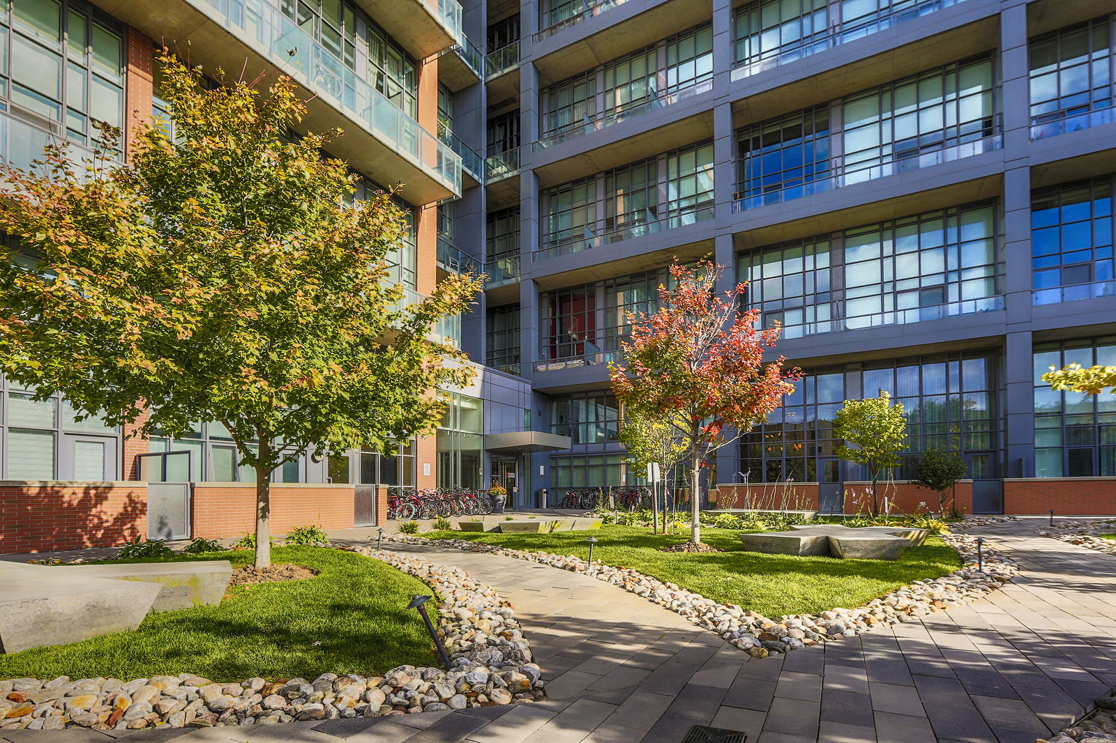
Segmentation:
<svg viewBox="0 0 1116 743">
<path fill-rule="evenodd" d="M 573 572 L 392 546 L 461 566 L 509 599 L 548 679 L 535 704 L 199 731 L 23 731 L 11 743 L 1033 743 L 1116 686 L 1116 558 L 990 527 L 1023 573 L 990 598 L 750 659 L 677 615 Z M 354 534 L 355 535 L 355 534 Z"/>
</svg>

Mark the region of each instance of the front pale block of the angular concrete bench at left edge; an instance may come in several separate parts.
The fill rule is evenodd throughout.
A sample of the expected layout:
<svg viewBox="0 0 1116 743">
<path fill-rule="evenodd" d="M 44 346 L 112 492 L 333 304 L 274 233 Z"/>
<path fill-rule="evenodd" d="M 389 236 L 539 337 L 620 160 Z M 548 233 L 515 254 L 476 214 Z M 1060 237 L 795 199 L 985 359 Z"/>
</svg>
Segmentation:
<svg viewBox="0 0 1116 743">
<path fill-rule="evenodd" d="M 0 650 L 76 643 L 135 629 L 162 587 L 0 561 Z"/>
</svg>

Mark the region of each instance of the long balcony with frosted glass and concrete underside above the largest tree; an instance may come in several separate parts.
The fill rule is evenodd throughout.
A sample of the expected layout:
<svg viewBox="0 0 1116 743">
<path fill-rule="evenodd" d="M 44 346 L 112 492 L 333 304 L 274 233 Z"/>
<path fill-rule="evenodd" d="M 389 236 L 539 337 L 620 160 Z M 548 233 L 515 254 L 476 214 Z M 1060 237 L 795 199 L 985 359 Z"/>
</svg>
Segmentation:
<svg viewBox="0 0 1116 743">
<path fill-rule="evenodd" d="M 191 62 L 208 70 L 240 70 L 247 61 L 249 77 L 261 69 L 269 77 L 291 76 L 302 88 L 300 95 L 312 97 L 302 126 L 347 131 L 330 143 L 330 153 L 382 183 L 403 181 L 404 196 L 412 203 L 461 195 L 461 157 L 270 2 L 105 0 L 98 4 L 172 48 L 175 44 L 186 48 L 189 42 Z"/>
</svg>

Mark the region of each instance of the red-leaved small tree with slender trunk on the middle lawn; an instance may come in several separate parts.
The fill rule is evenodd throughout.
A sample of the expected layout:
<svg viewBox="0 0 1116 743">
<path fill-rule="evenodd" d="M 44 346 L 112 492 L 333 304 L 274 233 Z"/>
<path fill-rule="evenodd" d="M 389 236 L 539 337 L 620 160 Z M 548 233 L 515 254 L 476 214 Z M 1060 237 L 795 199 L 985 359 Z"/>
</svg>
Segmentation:
<svg viewBox="0 0 1116 743">
<path fill-rule="evenodd" d="M 672 266 L 673 288 L 658 288 L 660 308 L 628 313 L 632 340 L 609 365 L 616 398 L 628 415 L 671 426 L 690 462 L 691 542 L 701 544 L 701 470 L 709 455 L 763 421 L 793 392 L 801 373 L 783 358 L 763 363 L 779 326 L 756 329 L 758 310 L 741 311 L 744 284 L 718 297 L 722 268 L 701 261 Z M 727 437 L 727 428 L 735 435 Z"/>
</svg>

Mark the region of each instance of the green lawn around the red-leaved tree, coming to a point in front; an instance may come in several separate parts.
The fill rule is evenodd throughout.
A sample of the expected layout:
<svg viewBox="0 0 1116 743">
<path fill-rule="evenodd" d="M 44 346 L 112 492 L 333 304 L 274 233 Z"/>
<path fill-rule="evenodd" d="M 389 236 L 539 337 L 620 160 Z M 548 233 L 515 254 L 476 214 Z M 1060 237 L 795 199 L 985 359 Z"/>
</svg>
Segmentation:
<svg viewBox="0 0 1116 743">
<path fill-rule="evenodd" d="M 768 617 L 785 614 L 852 609 L 904 583 L 936 578 L 955 570 L 958 553 L 940 539 L 908 549 L 902 559 L 840 560 L 747 552 L 740 531 L 702 529 L 702 541 L 724 552 L 661 552 L 657 548 L 686 541 L 685 535 L 653 535 L 641 527 L 602 527 L 599 531 L 549 534 L 499 534 L 435 531 L 431 539 L 469 539 L 517 550 L 542 550 L 587 558 L 586 538 L 600 541 L 594 559 L 634 568 L 660 580 L 677 583 L 716 601 L 737 604 Z"/>
</svg>

